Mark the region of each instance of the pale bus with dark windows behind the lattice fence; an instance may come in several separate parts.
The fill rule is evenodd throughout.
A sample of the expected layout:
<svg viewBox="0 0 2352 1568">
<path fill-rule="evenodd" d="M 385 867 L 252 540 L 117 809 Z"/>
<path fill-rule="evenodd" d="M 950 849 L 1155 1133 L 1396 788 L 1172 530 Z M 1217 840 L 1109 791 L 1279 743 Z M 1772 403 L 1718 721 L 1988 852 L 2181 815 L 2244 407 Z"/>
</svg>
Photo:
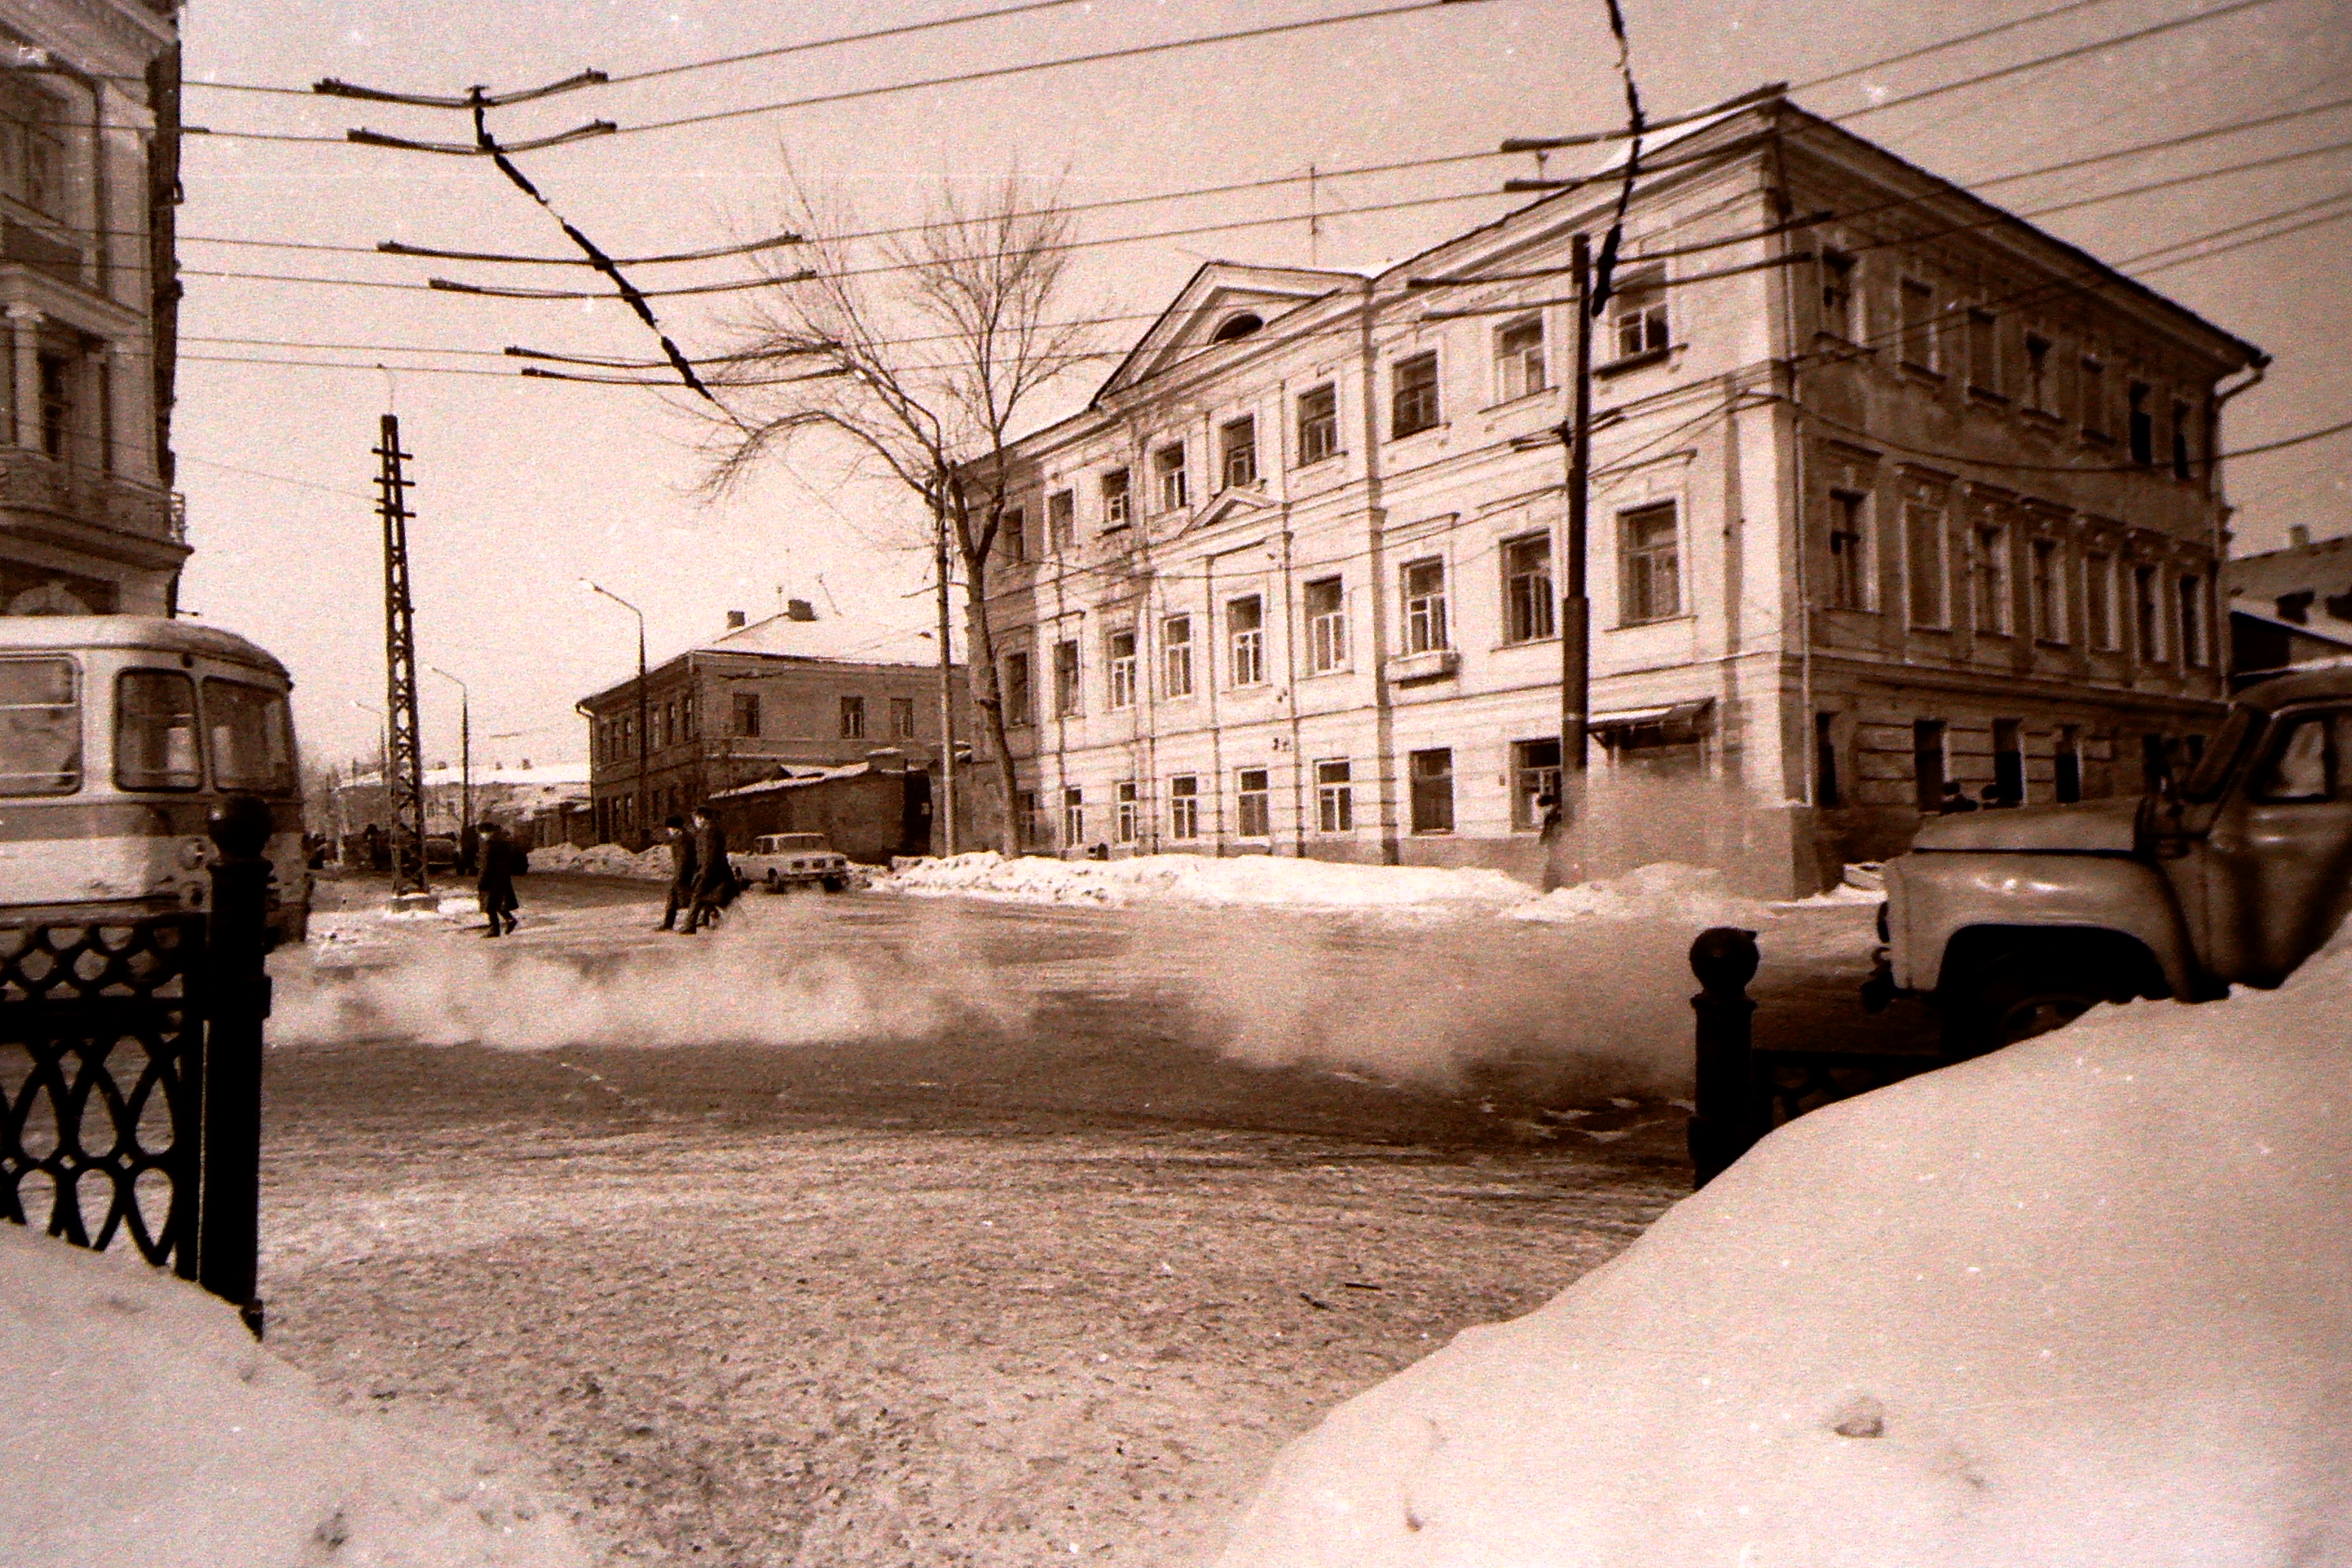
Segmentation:
<svg viewBox="0 0 2352 1568">
<path fill-rule="evenodd" d="M 212 625 L 0 616 L 0 922 L 101 924 L 200 910 L 205 816 L 273 818 L 270 931 L 310 924 L 285 665 Z"/>
</svg>

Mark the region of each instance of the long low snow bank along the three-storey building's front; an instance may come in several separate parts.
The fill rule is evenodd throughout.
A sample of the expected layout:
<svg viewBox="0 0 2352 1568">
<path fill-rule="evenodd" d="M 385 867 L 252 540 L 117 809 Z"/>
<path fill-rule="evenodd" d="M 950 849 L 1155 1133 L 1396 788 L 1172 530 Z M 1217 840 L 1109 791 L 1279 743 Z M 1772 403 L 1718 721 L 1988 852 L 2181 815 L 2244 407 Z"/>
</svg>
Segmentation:
<svg viewBox="0 0 2352 1568">
<path fill-rule="evenodd" d="M 1251 905 L 1287 910 L 1501 907 L 1529 898 L 1503 872 L 1432 865 L 1348 865 L 1289 856 L 1134 856 L 1129 860 L 1049 860 L 981 851 L 946 860 L 910 860 L 877 872 L 884 893 L 997 898 L 1007 903 Z"/>
</svg>

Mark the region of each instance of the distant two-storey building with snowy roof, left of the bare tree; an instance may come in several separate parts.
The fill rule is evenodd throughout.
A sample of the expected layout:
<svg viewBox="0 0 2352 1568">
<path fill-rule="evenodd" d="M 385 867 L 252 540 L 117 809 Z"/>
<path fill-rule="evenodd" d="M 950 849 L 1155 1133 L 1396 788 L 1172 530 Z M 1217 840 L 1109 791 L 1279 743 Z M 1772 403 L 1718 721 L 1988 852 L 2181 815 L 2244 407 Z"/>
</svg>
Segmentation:
<svg viewBox="0 0 2352 1568">
<path fill-rule="evenodd" d="M 896 752 L 938 771 L 938 654 L 927 637 L 818 618 L 804 599 L 729 630 L 647 672 L 640 776 L 637 682 L 579 703 L 588 719 L 588 792 L 600 842 L 642 844 L 720 790 Z M 969 745 L 964 672 L 955 689 L 957 745 Z"/>
</svg>

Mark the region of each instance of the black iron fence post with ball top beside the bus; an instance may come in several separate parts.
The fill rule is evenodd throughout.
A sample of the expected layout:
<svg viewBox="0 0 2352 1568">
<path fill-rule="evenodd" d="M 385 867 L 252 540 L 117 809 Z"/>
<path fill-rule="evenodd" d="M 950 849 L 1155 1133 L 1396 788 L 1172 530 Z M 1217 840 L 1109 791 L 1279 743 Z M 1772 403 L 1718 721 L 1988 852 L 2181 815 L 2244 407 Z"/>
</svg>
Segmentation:
<svg viewBox="0 0 2352 1568">
<path fill-rule="evenodd" d="M 261 1338 L 261 1020 L 270 1016 L 270 809 L 230 795 L 207 832 L 212 912 L 205 919 L 205 1187 L 198 1218 L 200 1286 L 235 1302 Z"/>
</svg>

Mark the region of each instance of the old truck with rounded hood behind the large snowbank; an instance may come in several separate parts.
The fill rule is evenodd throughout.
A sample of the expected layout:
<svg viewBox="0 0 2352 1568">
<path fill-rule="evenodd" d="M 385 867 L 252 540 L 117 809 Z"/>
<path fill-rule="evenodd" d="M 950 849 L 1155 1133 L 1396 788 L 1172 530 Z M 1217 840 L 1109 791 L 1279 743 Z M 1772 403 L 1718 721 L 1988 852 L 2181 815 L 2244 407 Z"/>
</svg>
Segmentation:
<svg viewBox="0 0 2352 1568">
<path fill-rule="evenodd" d="M 1926 999 L 1955 1058 L 2100 1001 L 2274 987 L 2352 914 L 2352 668 L 2239 693 L 2138 799 L 1929 818 L 1884 882 L 1863 1001 Z"/>
</svg>

